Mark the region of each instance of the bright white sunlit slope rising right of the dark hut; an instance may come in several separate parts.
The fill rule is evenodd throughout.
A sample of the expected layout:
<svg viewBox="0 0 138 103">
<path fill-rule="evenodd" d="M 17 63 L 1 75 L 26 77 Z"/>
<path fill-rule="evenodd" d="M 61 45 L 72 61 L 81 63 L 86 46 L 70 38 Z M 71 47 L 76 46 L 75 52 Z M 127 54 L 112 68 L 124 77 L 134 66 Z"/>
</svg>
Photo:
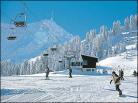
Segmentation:
<svg viewBox="0 0 138 103">
<path fill-rule="evenodd" d="M 117 72 L 123 69 L 125 75 L 132 75 L 134 70 L 137 71 L 136 44 L 128 45 L 126 48 L 126 52 L 101 60 L 97 65 L 111 67 Z"/>
</svg>

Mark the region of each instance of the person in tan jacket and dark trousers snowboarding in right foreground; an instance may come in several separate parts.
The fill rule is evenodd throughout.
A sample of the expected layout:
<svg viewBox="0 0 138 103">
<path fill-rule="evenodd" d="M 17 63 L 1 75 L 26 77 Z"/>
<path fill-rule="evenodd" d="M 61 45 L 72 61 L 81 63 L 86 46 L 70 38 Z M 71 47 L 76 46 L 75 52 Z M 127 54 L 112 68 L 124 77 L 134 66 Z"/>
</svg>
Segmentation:
<svg viewBox="0 0 138 103">
<path fill-rule="evenodd" d="M 119 96 L 122 95 L 122 91 L 120 90 L 119 86 L 121 85 L 120 83 L 120 77 L 116 74 L 115 71 L 112 72 L 112 80 L 110 81 L 110 84 L 114 81 L 115 88 L 119 92 Z"/>
</svg>

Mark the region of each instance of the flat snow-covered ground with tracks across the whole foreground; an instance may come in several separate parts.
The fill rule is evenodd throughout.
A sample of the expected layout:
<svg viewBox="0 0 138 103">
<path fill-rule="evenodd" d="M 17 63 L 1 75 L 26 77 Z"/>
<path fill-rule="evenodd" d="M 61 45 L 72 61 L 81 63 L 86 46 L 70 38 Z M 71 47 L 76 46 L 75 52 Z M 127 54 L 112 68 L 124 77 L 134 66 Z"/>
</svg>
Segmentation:
<svg viewBox="0 0 138 103">
<path fill-rule="evenodd" d="M 125 76 L 119 97 L 110 75 L 45 74 L 1 77 L 2 102 L 137 102 L 137 78 Z"/>
</svg>

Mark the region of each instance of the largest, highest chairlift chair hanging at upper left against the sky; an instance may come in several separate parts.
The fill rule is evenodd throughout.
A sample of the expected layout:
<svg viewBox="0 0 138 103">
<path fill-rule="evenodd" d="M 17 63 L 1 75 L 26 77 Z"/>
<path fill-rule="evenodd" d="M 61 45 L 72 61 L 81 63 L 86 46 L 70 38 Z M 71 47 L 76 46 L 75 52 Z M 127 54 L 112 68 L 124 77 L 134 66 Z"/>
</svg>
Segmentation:
<svg viewBox="0 0 138 103">
<path fill-rule="evenodd" d="M 26 26 L 26 14 L 19 13 L 14 19 L 14 25 L 16 27 L 25 27 Z"/>
</svg>

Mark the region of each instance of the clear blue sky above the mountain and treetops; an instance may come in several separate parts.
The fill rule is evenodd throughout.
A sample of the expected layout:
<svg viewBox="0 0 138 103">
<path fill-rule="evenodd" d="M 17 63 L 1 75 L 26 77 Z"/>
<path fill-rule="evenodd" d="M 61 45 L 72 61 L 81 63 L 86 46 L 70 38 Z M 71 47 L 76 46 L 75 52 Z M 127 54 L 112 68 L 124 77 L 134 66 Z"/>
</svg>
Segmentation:
<svg viewBox="0 0 138 103">
<path fill-rule="evenodd" d="M 136 1 L 26 1 L 28 22 L 50 19 L 66 31 L 83 39 L 90 29 L 97 32 L 101 25 L 112 26 L 120 20 L 137 13 Z M 1 22 L 9 23 L 23 9 L 20 1 L 2 1 Z"/>
</svg>

